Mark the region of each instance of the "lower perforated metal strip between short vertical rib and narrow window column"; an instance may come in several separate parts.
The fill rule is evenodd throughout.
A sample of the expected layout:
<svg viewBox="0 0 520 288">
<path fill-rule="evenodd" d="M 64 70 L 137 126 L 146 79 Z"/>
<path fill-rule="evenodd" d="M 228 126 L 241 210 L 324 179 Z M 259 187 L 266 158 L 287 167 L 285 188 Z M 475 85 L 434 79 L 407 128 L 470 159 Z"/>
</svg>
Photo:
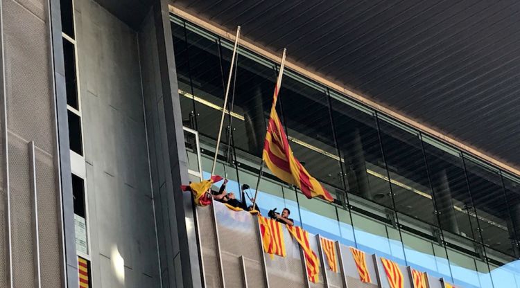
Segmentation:
<svg viewBox="0 0 520 288">
<path fill-rule="evenodd" d="M 60 230 L 56 222 L 59 209 L 55 195 L 57 188 L 53 158 L 40 150 L 35 151 L 35 158 L 42 287 L 63 287 L 59 265 Z"/>
</svg>

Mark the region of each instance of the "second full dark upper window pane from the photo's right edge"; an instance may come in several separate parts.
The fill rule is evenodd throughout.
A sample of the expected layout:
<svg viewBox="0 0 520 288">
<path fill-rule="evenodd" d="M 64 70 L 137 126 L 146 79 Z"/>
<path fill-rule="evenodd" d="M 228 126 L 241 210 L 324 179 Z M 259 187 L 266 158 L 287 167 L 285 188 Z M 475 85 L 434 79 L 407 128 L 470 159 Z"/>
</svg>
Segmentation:
<svg viewBox="0 0 520 288">
<path fill-rule="evenodd" d="M 460 153 L 426 136 L 423 140 L 440 226 L 445 231 L 474 239 L 476 217 Z M 448 237 L 446 233 L 444 237 Z"/>
</svg>

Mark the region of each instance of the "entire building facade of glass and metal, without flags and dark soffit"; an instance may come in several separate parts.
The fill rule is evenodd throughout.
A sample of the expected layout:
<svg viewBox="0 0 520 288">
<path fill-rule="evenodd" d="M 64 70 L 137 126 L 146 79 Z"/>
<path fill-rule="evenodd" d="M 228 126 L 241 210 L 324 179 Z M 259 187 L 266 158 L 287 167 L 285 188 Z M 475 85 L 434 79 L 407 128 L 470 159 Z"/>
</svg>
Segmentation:
<svg viewBox="0 0 520 288">
<path fill-rule="evenodd" d="M 3 0 L 0 26 L 1 287 L 390 287 L 381 258 L 429 287 L 520 287 L 517 170 L 291 62 L 277 111 L 334 201 L 307 199 L 261 168 L 279 55 L 244 39 L 232 67 L 234 31 L 188 3 Z M 180 191 L 215 154 L 227 190 L 310 233 L 318 282 L 286 231 L 266 257 L 256 217 Z"/>
</svg>

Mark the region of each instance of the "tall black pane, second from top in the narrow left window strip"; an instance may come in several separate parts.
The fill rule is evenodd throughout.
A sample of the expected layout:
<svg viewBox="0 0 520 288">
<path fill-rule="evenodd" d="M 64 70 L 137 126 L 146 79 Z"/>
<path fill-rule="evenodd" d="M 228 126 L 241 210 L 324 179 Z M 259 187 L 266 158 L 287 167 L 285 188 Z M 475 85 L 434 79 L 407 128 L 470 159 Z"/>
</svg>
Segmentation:
<svg viewBox="0 0 520 288">
<path fill-rule="evenodd" d="M 78 82 L 76 79 L 76 54 L 74 44 L 63 39 L 63 56 L 65 62 L 65 84 L 67 88 L 67 104 L 79 110 Z"/>
</svg>

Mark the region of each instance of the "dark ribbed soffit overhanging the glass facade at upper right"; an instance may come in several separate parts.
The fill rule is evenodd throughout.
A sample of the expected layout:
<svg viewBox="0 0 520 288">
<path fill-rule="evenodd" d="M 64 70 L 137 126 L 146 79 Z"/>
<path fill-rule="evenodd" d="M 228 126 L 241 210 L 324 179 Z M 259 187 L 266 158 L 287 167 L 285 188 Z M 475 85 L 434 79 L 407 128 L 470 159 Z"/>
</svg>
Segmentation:
<svg viewBox="0 0 520 288">
<path fill-rule="evenodd" d="M 518 1 L 173 1 L 520 167 Z"/>
</svg>

